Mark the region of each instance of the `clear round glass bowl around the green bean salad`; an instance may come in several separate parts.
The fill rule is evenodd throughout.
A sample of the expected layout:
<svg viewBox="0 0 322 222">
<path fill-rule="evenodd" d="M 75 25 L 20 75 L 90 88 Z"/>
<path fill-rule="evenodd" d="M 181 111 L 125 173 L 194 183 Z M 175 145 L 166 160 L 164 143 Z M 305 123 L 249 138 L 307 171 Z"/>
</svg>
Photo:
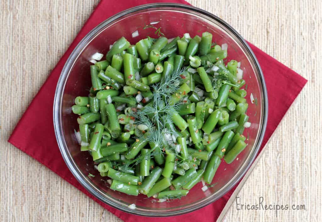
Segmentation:
<svg viewBox="0 0 322 222">
<path fill-rule="evenodd" d="M 151 25 L 152 23 L 152 25 Z M 152 27 L 153 26 L 153 27 Z M 159 203 L 151 198 L 139 195 L 129 196 L 109 189 L 106 178 L 102 178 L 94 169 L 88 152 L 81 152 L 74 134 L 78 129 L 77 115 L 71 112 L 76 96 L 87 96 L 91 86 L 91 55 L 95 52 L 106 54 L 109 45 L 121 36 L 131 44 L 146 36 L 158 37 L 160 32 L 167 38 L 182 36 L 184 33 L 201 35 L 207 31 L 213 34 L 213 42 L 228 44 L 227 60 L 240 61 L 244 71 L 244 79 L 248 85 L 247 101 L 251 127 L 244 135 L 248 138 L 248 146 L 232 164 L 224 161 L 219 166 L 213 179 L 215 186 L 205 192 L 202 184 L 197 184 L 186 197 Z M 138 36 L 132 33 L 138 31 Z M 250 101 L 253 94 L 255 103 Z M 260 148 L 267 122 L 267 92 L 260 65 L 248 44 L 230 25 L 217 16 L 193 6 L 181 4 L 149 4 L 125 10 L 105 20 L 87 34 L 71 53 L 63 67 L 59 78 L 54 100 L 54 128 L 62 156 L 76 179 L 92 195 L 106 204 L 128 213 L 162 217 L 191 212 L 202 208 L 221 198 L 238 183 L 251 166 Z M 89 173 L 95 175 L 88 177 Z M 128 205 L 135 204 L 135 209 Z"/>
</svg>

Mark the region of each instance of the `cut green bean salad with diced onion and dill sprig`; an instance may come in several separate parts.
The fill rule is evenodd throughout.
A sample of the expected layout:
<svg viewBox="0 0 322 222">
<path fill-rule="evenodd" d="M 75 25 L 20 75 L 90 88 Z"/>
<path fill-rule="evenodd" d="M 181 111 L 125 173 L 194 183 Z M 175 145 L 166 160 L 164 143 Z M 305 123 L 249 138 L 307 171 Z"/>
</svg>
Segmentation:
<svg viewBox="0 0 322 222">
<path fill-rule="evenodd" d="M 124 37 L 92 56 L 92 87 L 75 98 L 76 137 L 110 189 L 160 201 L 211 184 L 222 159 L 245 149 L 250 127 L 240 63 L 212 34 Z M 101 60 L 101 61 L 99 61 Z M 91 175 L 93 176 L 93 175 Z M 209 186 L 204 185 L 205 191 Z"/>
</svg>

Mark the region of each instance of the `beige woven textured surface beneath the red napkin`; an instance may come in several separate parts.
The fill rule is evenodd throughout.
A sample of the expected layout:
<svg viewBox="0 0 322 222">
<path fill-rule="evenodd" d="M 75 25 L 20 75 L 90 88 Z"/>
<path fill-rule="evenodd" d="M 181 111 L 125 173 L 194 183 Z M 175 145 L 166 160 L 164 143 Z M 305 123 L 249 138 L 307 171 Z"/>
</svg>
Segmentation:
<svg viewBox="0 0 322 222">
<path fill-rule="evenodd" d="M 311 163 L 310 159 L 312 158 L 310 155 L 315 157 L 315 161 L 318 160 L 314 163 L 320 164 L 319 159 L 317 159 L 320 158 L 319 153 L 317 153 L 319 152 L 317 149 L 320 141 L 312 140 L 311 136 L 302 136 L 304 132 L 305 135 L 313 135 L 313 132 L 316 134 L 320 132 L 318 130 L 321 130 L 318 128 L 321 122 L 321 119 L 318 119 L 320 117 L 314 117 L 317 118 L 317 121 L 310 121 L 313 118 L 312 116 L 319 114 L 318 112 L 321 110 L 317 109 L 313 112 L 316 108 L 309 105 L 313 104 L 311 101 L 313 94 L 309 94 L 313 93 L 312 87 L 318 87 L 318 84 L 320 84 L 320 79 L 318 79 L 320 77 L 315 76 L 320 54 L 315 51 L 315 48 L 321 46 L 319 29 L 321 19 L 319 17 L 314 18 L 316 14 L 311 11 L 306 16 L 308 21 L 309 18 L 312 18 L 312 21 L 310 20 L 308 24 L 298 18 L 299 24 L 293 24 L 294 21 L 292 20 L 291 24 L 288 25 L 289 27 L 273 24 L 271 27 L 266 27 L 266 30 L 260 31 L 265 25 L 268 25 L 261 21 L 266 14 L 265 12 L 257 14 L 256 17 L 251 17 L 256 18 L 254 24 L 246 20 L 246 17 L 250 19 L 246 9 L 255 7 L 256 2 L 251 2 L 250 4 L 252 5 L 235 5 L 235 2 L 216 3 L 216 5 L 225 5 L 222 8 L 218 8 L 215 5 L 200 5 L 201 2 L 190 3 L 218 14 L 251 42 L 257 44 L 256 40 L 259 40 L 262 43 L 262 45 L 257 44 L 260 48 L 268 53 L 271 52 L 270 54 L 278 60 L 309 79 L 308 86 L 296 101 L 295 107 L 298 104 L 300 105 L 296 108 L 293 106 L 290 110 L 292 114 L 289 113 L 285 118 L 286 120 L 284 120 L 288 121 L 288 125 L 286 125 L 285 129 L 277 131 L 277 135 L 274 137 L 277 137 L 275 142 L 274 138 L 272 138 L 273 141 L 270 144 L 274 143 L 274 146 L 263 154 L 254 173 L 239 194 L 243 202 L 250 204 L 254 203 L 260 196 L 263 196 L 268 203 L 305 203 L 307 210 L 281 212 L 279 213 L 279 219 L 276 219 L 273 212 L 237 211 L 232 208 L 228 212 L 226 220 L 249 221 L 251 218 L 254 221 L 281 221 L 281 218 L 283 218 L 287 221 L 293 218 L 302 218 L 314 221 L 315 218 L 318 218 L 317 214 L 314 214 L 314 209 L 318 209 L 318 206 L 314 204 L 317 202 L 314 202 L 314 200 L 317 201 L 320 195 L 320 189 L 316 186 L 320 179 L 318 174 L 320 166 L 313 165 L 313 162 Z M 48 73 L 50 71 L 48 67 L 53 67 L 58 58 L 61 57 L 61 52 L 66 50 L 67 45 L 71 43 L 84 20 L 87 19 L 92 10 L 92 7 L 87 7 L 92 3 L 88 2 L 86 6 L 84 2 L 82 2 L 83 5 L 69 3 L 64 6 L 57 3 L 56 5 L 49 5 L 52 11 L 45 11 L 48 4 L 43 5 L 43 2 L 26 2 L 21 5 L 14 5 L 13 3 L 11 5 L 2 4 L 1 16 L 4 31 L 1 33 L 1 46 L 5 56 L 2 58 L 3 66 L 1 68 L 4 84 L 1 89 L 3 100 L 1 107 L 3 114 L 1 116 L 1 141 L 4 142 L 46 78 L 46 75 L 43 76 L 40 73 Z M 295 7 L 295 5 L 284 5 L 283 7 L 289 8 Z M 238 7 L 234 9 L 235 6 Z M 276 9 L 276 7 L 282 7 L 282 5 L 268 5 L 265 7 Z M 303 7 L 299 5 L 294 10 L 301 11 Z M 316 10 L 318 9 L 318 5 L 314 7 Z M 257 9 L 259 8 L 258 6 Z M 31 10 L 29 14 L 27 14 L 28 10 Z M 220 10 L 222 11 L 220 12 Z M 237 15 L 227 13 L 228 11 L 236 10 L 239 12 Z M 245 13 L 242 13 L 242 11 Z M 282 11 L 284 13 L 284 10 Z M 298 13 L 303 15 L 303 12 L 300 11 Z M 276 10 L 274 13 L 276 13 Z M 268 16 L 266 19 L 268 19 Z M 293 15 L 292 13 L 292 16 L 289 15 L 288 18 L 290 17 L 295 19 L 296 14 Z M 279 21 L 283 17 L 276 16 L 271 19 Z M 284 24 L 287 21 L 279 21 L 279 23 Z M 243 25 L 246 26 L 244 27 Z M 316 25 L 316 29 L 312 33 L 312 27 L 309 28 L 308 26 L 314 25 Z M 78 27 L 78 29 L 75 27 Z M 292 32 L 292 35 L 283 33 L 285 32 L 283 28 Z M 283 32 L 279 33 L 280 29 Z M 307 31 L 307 36 L 305 36 L 305 40 L 301 40 L 299 37 L 305 35 L 305 30 Z M 298 34 L 298 37 L 296 37 L 296 34 Z M 276 36 L 279 38 L 276 39 Z M 285 39 L 283 39 L 283 36 Z M 253 40 L 254 37 L 255 40 Z M 265 47 L 267 47 L 267 50 Z M 307 53 L 302 53 L 301 49 L 303 47 L 306 49 L 304 52 Z M 303 60 L 308 60 L 310 63 L 303 63 Z M 9 89 L 11 88 L 17 90 L 10 91 Z M 317 98 L 317 96 L 320 97 L 320 94 L 316 91 L 314 97 Z M 10 108 L 8 109 L 7 107 Z M 302 109 L 303 107 L 307 107 L 307 109 Z M 283 123 L 280 128 L 283 128 Z M 294 140 L 298 142 L 292 143 Z M 305 152 L 308 147 L 316 150 Z M 306 161 L 303 160 L 303 157 Z M 1 210 L 0 214 L 1 220 L 113 221 L 113 218 L 115 219 L 108 212 L 102 212 L 102 209 L 97 204 L 77 193 L 76 189 L 67 183 L 65 184 L 59 178 L 55 178 L 56 175 L 21 152 L 14 150 L 12 146 L 9 147 L 6 143 L 2 144 L 1 158 L 3 158 L 3 161 L 1 161 L 1 206 L 4 206 L 4 210 Z M 256 175 L 254 176 L 254 174 Z M 312 179 L 313 177 L 315 178 L 314 180 Z M 253 183 L 249 182 L 250 180 L 254 180 Z M 49 187 L 46 186 L 48 181 L 58 184 L 51 184 Z M 267 184 L 268 186 L 266 186 Z M 55 187 L 55 189 L 51 190 L 52 187 Z M 311 196 L 312 191 L 315 195 Z"/>
</svg>

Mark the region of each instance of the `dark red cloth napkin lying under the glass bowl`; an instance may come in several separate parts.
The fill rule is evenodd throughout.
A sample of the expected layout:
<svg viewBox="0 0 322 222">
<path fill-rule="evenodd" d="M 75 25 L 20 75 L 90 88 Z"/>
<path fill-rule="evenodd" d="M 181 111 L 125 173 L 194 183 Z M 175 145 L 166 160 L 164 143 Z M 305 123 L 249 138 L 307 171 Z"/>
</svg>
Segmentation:
<svg viewBox="0 0 322 222">
<path fill-rule="evenodd" d="M 59 63 L 53 69 L 52 73 L 49 75 L 48 79 L 43 84 L 42 88 L 39 90 L 28 109 L 25 111 L 8 140 L 15 147 L 24 151 L 26 154 L 38 160 L 43 165 L 47 166 L 63 179 L 67 180 L 73 186 L 80 189 L 90 198 L 98 202 L 102 207 L 106 208 L 126 222 L 134 222 L 143 218 L 124 213 L 99 201 L 81 186 L 81 184 L 74 178 L 67 168 L 64 160 L 62 159 L 62 155 L 59 151 L 55 138 L 52 120 L 53 100 L 56 84 L 58 82 L 63 65 L 75 46 L 91 29 L 120 11 L 137 5 L 155 2 L 175 2 L 188 4 L 183 0 L 118 0 L 117 4 L 115 4 L 114 1 L 102 0 L 99 5 L 97 5 L 95 11 L 90 15 L 90 18 L 87 20 L 80 33 L 76 36 L 75 40 L 71 43 L 71 46 L 68 48 L 67 52 L 62 56 Z M 267 130 L 260 148 L 261 151 L 283 118 L 284 114 L 297 97 L 298 93 L 306 84 L 307 80 L 298 75 L 296 72 L 290 70 L 285 65 L 279 63 L 266 53 L 262 52 L 254 45 L 250 43 L 249 45 L 255 53 L 263 70 L 270 107 Z M 195 218 L 199 218 L 198 221 L 201 222 L 215 221 L 219 217 L 236 187 L 237 185 L 215 203 L 197 211 L 181 216 L 167 218 L 145 217 L 144 220 L 146 222 L 163 221 L 165 219 L 168 222 L 192 222 L 195 221 Z M 204 217 L 205 215 L 207 215 L 207 217 Z"/>
</svg>

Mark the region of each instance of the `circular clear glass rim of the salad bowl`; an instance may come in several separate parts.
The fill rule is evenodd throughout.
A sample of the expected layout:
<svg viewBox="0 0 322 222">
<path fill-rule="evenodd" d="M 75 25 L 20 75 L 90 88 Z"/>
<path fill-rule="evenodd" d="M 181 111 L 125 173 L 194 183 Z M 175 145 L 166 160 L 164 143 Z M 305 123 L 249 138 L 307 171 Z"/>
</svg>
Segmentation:
<svg viewBox="0 0 322 222">
<path fill-rule="evenodd" d="M 69 152 L 67 151 L 66 142 L 63 139 L 63 137 L 60 136 L 63 132 L 62 124 L 60 124 L 60 123 L 62 120 L 62 118 L 61 118 L 62 95 L 63 95 L 63 89 L 65 88 L 65 84 L 66 84 L 66 81 L 65 81 L 66 77 L 69 74 L 70 67 L 73 66 L 75 59 L 79 56 L 79 53 L 81 52 L 81 50 L 83 50 L 83 47 L 88 43 L 88 40 L 90 40 L 90 38 L 92 36 L 94 36 L 95 34 L 99 33 L 99 30 L 101 30 L 104 26 L 106 26 L 109 23 L 112 23 L 113 21 L 115 21 L 119 17 L 122 17 L 126 14 L 129 14 L 129 13 L 137 12 L 139 10 L 144 10 L 144 9 L 148 9 L 148 8 L 160 8 L 160 7 L 161 8 L 162 7 L 174 7 L 174 8 L 180 8 L 180 9 L 185 9 L 185 10 L 191 10 L 193 12 L 203 14 L 205 16 L 208 16 L 211 19 L 216 20 L 221 25 L 223 25 L 225 28 L 227 28 L 233 35 L 235 35 L 235 37 L 242 43 L 242 46 L 244 46 L 244 48 L 249 53 L 250 58 L 248 58 L 248 59 L 252 60 L 252 62 L 255 64 L 255 67 L 253 67 L 253 68 L 257 69 L 257 72 L 260 77 L 259 84 L 261 84 L 261 89 L 262 89 L 262 101 L 263 101 L 262 121 L 263 122 L 262 122 L 262 127 L 259 132 L 257 144 L 256 144 L 256 146 L 254 146 L 254 148 L 253 148 L 254 150 L 251 153 L 251 156 L 249 157 L 249 162 L 247 164 L 244 164 L 244 166 L 242 166 L 242 169 L 240 170 L 240 174 L 235 179 L 233 179 L 231 181 L 231 183 L 228 184 L 228 186 L 224 187 L 224 189 L 221 191 L 220 195 L 218 195 L 217 197 L 206 198 L 203 200 L 203 202 L 201 202 L 201 203 L 198 202 L 198 204 L 194 204 L 194 206 L 192 206 L 190 208 L 184 208 L 184 209 L 180 209 L 180 210 L 172 210 L 170 212 L 161 211 L 160 213 L 158 213 L 157 210 L 154 210 L 153 212 L 151 212 L 149 210 L 137 211 L 137 210 L 130 209 L 128 207 L 123 207 L 123 206 L 117 204 L 115 201 L 113 202 L 113 201 L 109 200 L 108 198 L 104 197 L 103 195 L 99 194 L 94 189 L 94 187 L 89 183 L 89 180 L 82 175 L 82 172 L 77 168 L 75 162 L 73 161 Z M 109 17 L 108 19 L 106 19 L 105 21 L 101 22 L 99 25 L 94 27 L 77 44 L 77 46 L 74 48 L 74 50 L 71 52 L 70 56 L 68 57 L 66 63 L 64 64 L 61 75 L 60 75 L 59 80 L 57 82 L 57 87 L 56 87 L 56 92 L 55 92 L 55 97 L 54 97 L 54 106 L 53 106 L 53 123 L 54 123 L 54 131 L 55 131 L 55 135 L 56 135 L 56 140 L 57 140 L 59 149 L 62 153 L 62 157 L 63 157 L 67 167 L 70 169 L 71 173 L 74 175 L 74 177 L 77 179 L 77 181 L 87 191 L 89 191 L 90 194 L 92 194 L 95 198 L 98 198 L 103 203 L 106 203 L 113 208 L 116 208 L 118 210 L 122 210 L 127 213 L 140 215 L 140 216 L 148 216 L 148 217 L 168 217 L 168 216 L 176 216 L 176 215 L 189 213 L 194 210 L 203 208 L 203 207 L 213 203 L 214 201 L 218 200 L 219 198 L 223 197 L 230 189 L 232 189 L 242 179 L 242 177 L 248 171 L 248 169 L 250 168 L 254 159 L 256 158 L 257 153 L 258 153 L 260 146 L 262 144 L 265 131 L 266 131 L 267 118 L 268 118 L 268 96 L 267 96 L 267 88 L 266 88 L 266 84 L 265 84 L 265 79 L 263 76 L 263 72 L 260 68 L 260 64 L 259 64 L 256 56 L 254 55 L 253 51 L 251 50 L 250 46 L 246 43 L 246 41 L 242 38 L 242 36 L 235 29 L 233 29 L 229 24 L 227 24 L 225 21 L 223 21 L 218 16 L 216 16 L 212 13 L 209 13 L 203 9 L 191 6 L 191 5 L 184 5 L 184 4 L 177 4 L 177 3 L 153 3 L 153 4 L 135 6 L 135 7 L 126 9 L 124 11 L 119 12 L 118 14 L 115 14 L 115 15 Z"/>
</svg>

